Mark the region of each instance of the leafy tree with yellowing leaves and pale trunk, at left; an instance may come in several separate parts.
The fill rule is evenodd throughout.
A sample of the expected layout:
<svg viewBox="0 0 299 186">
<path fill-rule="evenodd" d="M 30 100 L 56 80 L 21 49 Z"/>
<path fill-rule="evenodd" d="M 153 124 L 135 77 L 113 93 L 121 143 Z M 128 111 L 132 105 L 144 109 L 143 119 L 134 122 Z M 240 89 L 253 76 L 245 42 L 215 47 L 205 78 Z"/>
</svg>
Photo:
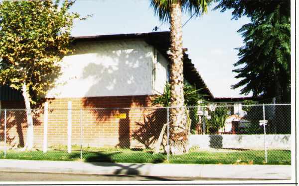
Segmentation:
<svg viewBox="0 0 299 186">
<path fill-rule="evenodd" d="M 20 90 L 27 117 L 23 148 L 33 147 L 31 104 L 53 87 L 68 48 L 73 20 L 68 12 L 73 0 L 15 0 L 0 2 L 0 84 Z"/>
</svg>

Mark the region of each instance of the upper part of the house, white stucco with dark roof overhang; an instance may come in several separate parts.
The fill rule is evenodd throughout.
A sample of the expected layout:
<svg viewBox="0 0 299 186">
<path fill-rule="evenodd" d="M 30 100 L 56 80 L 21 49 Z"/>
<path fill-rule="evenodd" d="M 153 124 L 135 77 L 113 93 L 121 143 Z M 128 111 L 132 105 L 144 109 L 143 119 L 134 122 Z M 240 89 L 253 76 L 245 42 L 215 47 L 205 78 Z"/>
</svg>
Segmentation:
<svg viewBox="0 0 299 186">
<path fill-rule="evenodd" d="M 141 96 L 146 99 L 163 92 L 169 78 L 166 54 L 170 45 L 169 32 L 83 36 L 73 39 L 75 53 L 63 58 L 62 75 L 46 98 L 82 101 L 87 98 L 114 97 L 124 100 Z M 197 88 L 204 88 L 200 91 L 207 95 L 208 100 L 213 99 L 185 52 L 184 78 Z M 21 99 L 20 93 L 8 87 L 0 89 L 2 108 L 13 108 L 7 101 Z M 124 105 L 116 103 L 98 106 L 121 108 Z"/>
</svg>

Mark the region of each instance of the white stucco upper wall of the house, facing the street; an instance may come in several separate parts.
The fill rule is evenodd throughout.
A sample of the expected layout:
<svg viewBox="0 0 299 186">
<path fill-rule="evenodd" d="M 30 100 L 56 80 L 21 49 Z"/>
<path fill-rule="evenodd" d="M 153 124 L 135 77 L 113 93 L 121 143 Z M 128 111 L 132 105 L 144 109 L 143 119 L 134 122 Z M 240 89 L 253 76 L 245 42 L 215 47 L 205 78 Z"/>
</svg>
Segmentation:
<svg viewBox="0 0 299 186">
<path fill-rule="evenodd" d="M 78 44 L 47 97 L 151 95 L 153 50 L 142 40 Z"/>
</svg>

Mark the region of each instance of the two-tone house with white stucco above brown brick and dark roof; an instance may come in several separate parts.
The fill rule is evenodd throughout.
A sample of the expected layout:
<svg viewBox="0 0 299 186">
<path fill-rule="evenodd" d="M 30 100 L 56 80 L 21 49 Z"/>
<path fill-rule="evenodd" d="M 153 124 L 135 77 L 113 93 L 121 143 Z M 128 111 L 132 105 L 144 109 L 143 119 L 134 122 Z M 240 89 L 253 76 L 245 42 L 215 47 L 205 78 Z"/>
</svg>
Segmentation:
<svg viewBox="0 0 299 186">
<path fill-rule="evenodd" d="M 67 116 L 71 108 L 72 144 L 80 144 L 82 124 L 84 145 L 132 147 L 134 133 L 149 123 L 148 116 L 156 112 L 141 108 L 151 106 L 150 99 L 163 92 L 169 78 L 166 54 L 169 46 L 169 32 L 74 37 L 75 52 L 63 58 L 61 76 L 46 95 L 50 111 L 48 144 L 67 144 Z M 186 51 L 183 54 L 185 80 L 198 89 L 203 88 L 200 93 L 213 100 Z M 7 86 L 1 87 L 0 109 L 15 108 L 24 108 L 21 94 Z M 80 109 L 84 109 L 82 113 Z M 161 125 L 166 122 L 165 110 L 159 112 L 156 115 L 160 119 L 155 124 Z M 22 145 L 26 137 L 25 113 L 8 114 L 7 136 L 16 145 Z M 42 112 L 34 116 L 34 124 L 34 143 L 38 146 L 43 140 Z M 142 140 L 139 142 L 147 143 L 149 139 Z"/>
</svg>

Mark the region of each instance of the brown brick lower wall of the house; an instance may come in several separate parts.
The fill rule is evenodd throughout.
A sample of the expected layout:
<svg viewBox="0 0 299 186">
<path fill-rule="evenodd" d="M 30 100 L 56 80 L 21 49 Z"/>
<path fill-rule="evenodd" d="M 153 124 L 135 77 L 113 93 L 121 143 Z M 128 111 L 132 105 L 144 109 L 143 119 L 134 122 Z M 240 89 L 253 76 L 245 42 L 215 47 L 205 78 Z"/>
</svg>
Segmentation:
<svg viewBox="0 0 299 186">
<path fill-rule="evenodd" d="M 80 144 L 80 110 L 82 110 L 83 146 L 144 147 L 157 139 L 166 122 L 164 109 L 150 107 L 150 96 L 119 96 L 48 99 L 48 146 L 67 145 L 67 105 L 72 102 L 72 144 Z M 1 102 L 2 109 L 24 108 L 22 102 Z M 42 107 L 43 108 L 43 107 Z M 106 108 L 97 109 L 97 108 Z M 132 109 L 107 109 L 132 108 Z M 117 115 L 126 114 L 125 119 Z M 0 113 L 0 143 L 3 141 L 3 112 Z M 7 142 L 23 145 L 26 140 L 25 111 L 7 111 Z M 135 139 L 135 140 L 134 140 Z M 138 140 L 136 140 L 138 139 Z M 34 145 L 43 142 L 43 111 L 34 115 Z"/>
</svg>

